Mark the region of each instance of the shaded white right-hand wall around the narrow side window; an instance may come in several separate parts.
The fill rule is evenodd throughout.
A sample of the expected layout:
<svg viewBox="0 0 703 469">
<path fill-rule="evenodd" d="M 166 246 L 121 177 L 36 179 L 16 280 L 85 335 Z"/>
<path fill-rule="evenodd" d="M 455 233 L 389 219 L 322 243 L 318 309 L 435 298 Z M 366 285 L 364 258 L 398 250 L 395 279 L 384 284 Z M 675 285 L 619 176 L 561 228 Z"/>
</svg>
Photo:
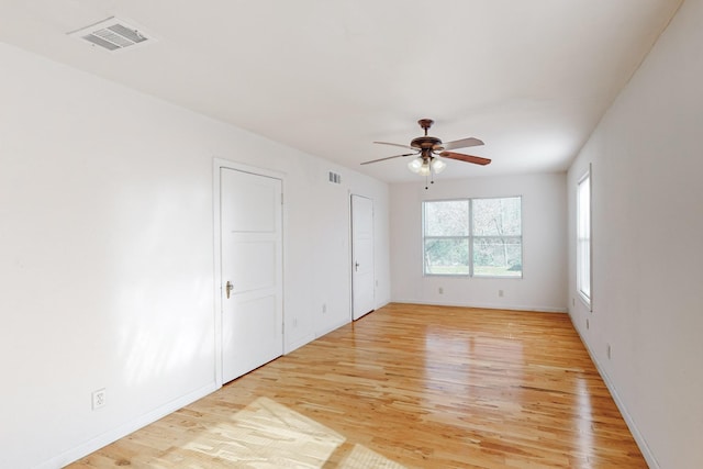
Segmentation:
<svg viewBox="0 0 703 469">
<path fill-rule="evenodd" d="M 701 44 L 703 1 L 687 0 L 568 177 L 576 299 L 574 191 L 592 163 L 593 312 L 576 299 L 570 314 L 661 468 L 703 467 Z"/>
</svg>

